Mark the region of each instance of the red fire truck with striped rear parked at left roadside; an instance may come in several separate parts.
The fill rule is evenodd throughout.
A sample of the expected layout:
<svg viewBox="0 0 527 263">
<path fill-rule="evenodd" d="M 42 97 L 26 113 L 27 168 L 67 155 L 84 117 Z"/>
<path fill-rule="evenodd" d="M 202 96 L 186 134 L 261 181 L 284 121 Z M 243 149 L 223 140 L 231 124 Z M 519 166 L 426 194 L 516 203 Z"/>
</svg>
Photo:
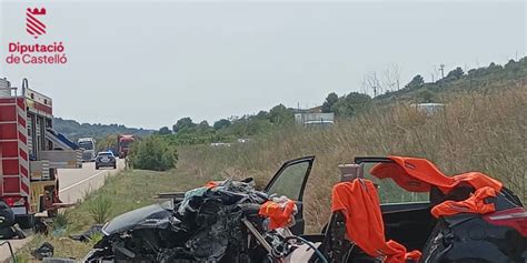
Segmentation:
<svg viewBox="0 0 527 263">
<path fill-rule="evenodd" d="M 52 101 L 22 82 L 21 93 L 0 79 L 0 201 L 22 227 L 34 215 L 53 215 L 59 200 L 57 169 L 81 168 L 82 152 L 52 130 Z"/>
</svg>

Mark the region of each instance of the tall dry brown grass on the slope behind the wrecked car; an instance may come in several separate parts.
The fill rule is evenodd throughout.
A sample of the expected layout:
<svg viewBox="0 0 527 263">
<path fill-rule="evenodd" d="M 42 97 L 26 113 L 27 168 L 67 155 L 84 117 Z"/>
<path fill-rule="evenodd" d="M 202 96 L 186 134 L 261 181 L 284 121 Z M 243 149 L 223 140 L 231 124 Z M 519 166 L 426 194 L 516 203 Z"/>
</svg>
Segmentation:
<svg viewBox="0 0 527 263">
<path fill-rule="evenodd" d="M 527 87 L 443 100 L 446 110 L 432 117 L 401 102 L 324 130 L 291 127 L 231 148 L 183 148 L 178 170 L 203 179 L 255 176 L 264 183 L 284 161 L 315 154 L 306 192 L 309 231 L 327 221 L 337 164 L 357 155 L 427 158 L 447 174 L 481 171 L 527 200 Z"/>
</svg>

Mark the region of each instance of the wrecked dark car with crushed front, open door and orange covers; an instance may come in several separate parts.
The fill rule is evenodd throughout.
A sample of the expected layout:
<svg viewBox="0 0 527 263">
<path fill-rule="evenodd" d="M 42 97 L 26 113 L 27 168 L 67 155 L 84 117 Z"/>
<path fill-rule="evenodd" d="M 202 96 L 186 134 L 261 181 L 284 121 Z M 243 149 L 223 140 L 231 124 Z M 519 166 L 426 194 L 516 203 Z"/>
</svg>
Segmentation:
<svg viewBox="0 0 527 263">
<path fill-rule="evenodd" d="M 526 262 L 527 212 L 499 181 L 446 176 L 414 158 L 340 165 L 331 215 L 305 234 L 315 156 L 286 162 L 262 191 L 219 181 L 125 213 L 86 262 Z"/>
</svg>

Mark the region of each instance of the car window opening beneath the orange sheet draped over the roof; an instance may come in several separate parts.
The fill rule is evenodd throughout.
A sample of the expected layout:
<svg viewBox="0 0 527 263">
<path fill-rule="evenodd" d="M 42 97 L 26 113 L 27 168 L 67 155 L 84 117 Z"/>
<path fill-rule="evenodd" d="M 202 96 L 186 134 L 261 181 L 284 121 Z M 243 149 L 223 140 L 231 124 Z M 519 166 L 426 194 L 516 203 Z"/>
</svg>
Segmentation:
<svg viewBox="0 0 527 263">
<path fill-rule="evenodd" d="M 371 175 L 371 169 L 379 163 L 364 163 L 364 178 L 371 180 L 378 185 L 377 192 L 379 194 L 380 204 L 388 203 L 410 203 L 429 201 L 429 193 L 408 192 L 397 185 L 391 179 L 378 179 Z"/>
</svg>

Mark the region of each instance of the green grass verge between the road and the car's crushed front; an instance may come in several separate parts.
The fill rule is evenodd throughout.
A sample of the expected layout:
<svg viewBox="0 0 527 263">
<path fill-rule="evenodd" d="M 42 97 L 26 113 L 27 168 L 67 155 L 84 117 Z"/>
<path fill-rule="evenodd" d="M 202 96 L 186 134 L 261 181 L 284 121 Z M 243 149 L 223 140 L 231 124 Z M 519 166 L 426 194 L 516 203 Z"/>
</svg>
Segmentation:
<svg viewBox="0 0 527 263">
<path fill-rule="evenodd" d="M 207 181 L 206 178 L 197 178 L 178 171 L 133 170 L 107 178 L 102 188 L 86 194 L 84 202 L 67 210 L 66 214 L 59 216 L 60 220 L 57 223 L 60 222 L 60 231 L 53 233 L 53 226 L 50 225 L 48 235 L 36 235 L 31 242 L 18 251 L 17 256 L 20 262 L 32 261 L 31 251 L 47 241 L 54 246 L 54 256 L 81 259 L 93 243 L 73 241 L 68 235 L 84 232 L 97 223 L 96 219 L 101 213 L 106 214 L 106 219 L 111 219 L 125 212 L 159 202 L 155 199 L 157 193 L 186 191 L 197 185 L 203 185 Z"/>
</svg>

